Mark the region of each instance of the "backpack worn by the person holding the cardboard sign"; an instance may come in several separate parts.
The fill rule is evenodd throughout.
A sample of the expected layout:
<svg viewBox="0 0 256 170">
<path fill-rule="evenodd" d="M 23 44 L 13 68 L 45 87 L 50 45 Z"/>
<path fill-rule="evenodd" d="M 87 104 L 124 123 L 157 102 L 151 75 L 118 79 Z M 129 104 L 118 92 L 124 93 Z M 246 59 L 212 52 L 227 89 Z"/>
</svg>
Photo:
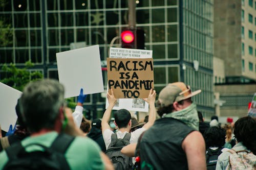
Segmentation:
<svg viewBox="0 0 256 170">
<path fill-rule="evenodd" d="M 115 169 L 128 170 L 132 169 L 133 161 L 131 157 L 121 153 L 121 149 L 130 144 L 131 133 L 126 133 L 123 138 L 118 139 L 116 133 L 111 135 L 111 143 L 105 154 L 112 161 Z"/>
</svg>

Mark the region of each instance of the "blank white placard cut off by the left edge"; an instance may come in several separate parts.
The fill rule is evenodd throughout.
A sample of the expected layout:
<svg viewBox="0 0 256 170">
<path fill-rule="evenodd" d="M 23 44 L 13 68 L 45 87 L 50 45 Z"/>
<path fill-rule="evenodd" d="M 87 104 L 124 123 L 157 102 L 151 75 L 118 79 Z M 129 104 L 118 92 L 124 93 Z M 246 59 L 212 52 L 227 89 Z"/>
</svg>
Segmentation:
<svg viewBox="0 0 256 170">
<path fill-rule="evenodd" d="M 0 83 L 0 124 L 2 130 L 8 132 L 9 126 L 16 124 L 17 114 L 15 111 L 15 106 L 17 105 L 17 100 L 22 95 L 22 92 L 7 86 L 4 83 Z"/>
</svg>

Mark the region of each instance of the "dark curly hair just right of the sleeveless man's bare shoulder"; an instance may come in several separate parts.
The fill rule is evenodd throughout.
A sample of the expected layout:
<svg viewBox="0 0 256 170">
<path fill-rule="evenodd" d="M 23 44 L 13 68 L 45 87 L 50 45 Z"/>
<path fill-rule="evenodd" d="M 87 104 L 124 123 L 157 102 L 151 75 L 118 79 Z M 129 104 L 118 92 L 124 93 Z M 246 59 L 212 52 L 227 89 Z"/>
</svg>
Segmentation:
<svg viewBox="0 0 256 170">
<path fill-rule="evenodd" d="M 223 147 L 225 144 L 226 131 L 219 127 L 210 127 L 204 132 L 206 149 L 209 147 Z"/>
</svg>

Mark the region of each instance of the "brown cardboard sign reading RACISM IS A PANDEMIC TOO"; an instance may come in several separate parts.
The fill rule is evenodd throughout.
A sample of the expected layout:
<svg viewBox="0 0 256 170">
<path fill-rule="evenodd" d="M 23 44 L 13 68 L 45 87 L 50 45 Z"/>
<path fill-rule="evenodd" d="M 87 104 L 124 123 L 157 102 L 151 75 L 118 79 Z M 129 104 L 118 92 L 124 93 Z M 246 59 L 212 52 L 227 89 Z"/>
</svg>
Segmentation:
<svg viewBox="0 0 256 170">
<path fill-rule="evenodd" d="M 147 98 L 154 88 L 152 58 L 108 58 L 107 68 L 108 87 L 116 99 Z"/>
</svg>

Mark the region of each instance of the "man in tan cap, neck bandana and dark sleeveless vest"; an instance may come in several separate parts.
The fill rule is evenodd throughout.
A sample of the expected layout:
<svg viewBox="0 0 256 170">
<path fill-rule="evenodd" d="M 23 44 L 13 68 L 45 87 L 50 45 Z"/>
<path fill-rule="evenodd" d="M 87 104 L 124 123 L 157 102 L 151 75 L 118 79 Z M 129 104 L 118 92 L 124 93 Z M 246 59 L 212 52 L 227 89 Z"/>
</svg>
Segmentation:
<svg viewBox="0 0 256 170">
<path fill-rule="evenodd" d="M 192 92 L 183 82 L 160 91 L 157 112 L 161 118 L 137 144 L 141 169 L 206 169 L 205 142 L 198 131 L 196 104 L 191 101 L 200 92 Z"/>
</svg>

